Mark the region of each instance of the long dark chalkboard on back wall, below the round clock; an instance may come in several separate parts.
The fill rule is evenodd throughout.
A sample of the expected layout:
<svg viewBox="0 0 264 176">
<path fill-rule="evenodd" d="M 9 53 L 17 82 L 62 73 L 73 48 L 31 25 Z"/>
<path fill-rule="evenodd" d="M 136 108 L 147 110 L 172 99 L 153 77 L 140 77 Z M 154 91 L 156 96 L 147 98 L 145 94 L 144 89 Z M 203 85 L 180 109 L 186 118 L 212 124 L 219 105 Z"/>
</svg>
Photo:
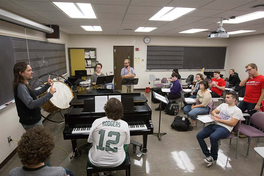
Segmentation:
<svg viewBox="0 0 264 176">
<path fill-rule="evenodd" d="M 226 47 L 147 45 L 146 70 L 224 69 Z"/>
</svg>

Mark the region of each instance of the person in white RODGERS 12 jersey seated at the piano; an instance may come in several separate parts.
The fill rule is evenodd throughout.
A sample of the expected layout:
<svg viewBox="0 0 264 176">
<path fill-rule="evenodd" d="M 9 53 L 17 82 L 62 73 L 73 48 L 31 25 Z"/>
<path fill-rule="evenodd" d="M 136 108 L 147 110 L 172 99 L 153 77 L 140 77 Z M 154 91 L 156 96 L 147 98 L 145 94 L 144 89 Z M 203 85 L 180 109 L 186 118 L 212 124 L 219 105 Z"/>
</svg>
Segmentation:
<svg viewBox="0 0 264 176">
<path fill-rule="evenodd" d="M 116 98 L 110 98 L 104 106 L 106 117 L 96 119 L 89 134 L 88 162 L 92 167 L 116 167 L 127 158 L 130 132 L 128 124 L 121 120 L 123 105 Z M 111 173 L 111 175 L 113 172 Z M 100 172 L 99 175 L 109 175 Z"/>
</svg>

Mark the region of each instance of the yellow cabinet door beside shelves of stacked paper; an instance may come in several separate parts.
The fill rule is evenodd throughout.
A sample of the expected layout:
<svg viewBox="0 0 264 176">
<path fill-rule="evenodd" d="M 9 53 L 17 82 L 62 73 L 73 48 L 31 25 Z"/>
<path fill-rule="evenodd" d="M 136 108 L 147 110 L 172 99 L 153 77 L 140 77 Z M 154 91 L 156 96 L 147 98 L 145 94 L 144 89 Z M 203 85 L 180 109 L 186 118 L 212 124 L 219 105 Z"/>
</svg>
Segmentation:
<svg viewBox="0 0 264 176">
<path fill-rule="evenodd" d="M 75 76 L 75 70 L 85 70 L 84 49 L 70 49 L 70 66 L 72 76 Z"/>
</svg>

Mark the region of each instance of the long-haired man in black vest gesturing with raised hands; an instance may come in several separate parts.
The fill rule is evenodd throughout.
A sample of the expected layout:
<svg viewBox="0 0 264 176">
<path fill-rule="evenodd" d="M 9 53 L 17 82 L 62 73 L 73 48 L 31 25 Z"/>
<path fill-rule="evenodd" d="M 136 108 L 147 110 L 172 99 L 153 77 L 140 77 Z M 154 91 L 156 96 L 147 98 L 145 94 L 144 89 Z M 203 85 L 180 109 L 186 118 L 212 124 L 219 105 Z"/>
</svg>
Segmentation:
<svg viewBox="0 0 264 176">
<path fill-rule="evenodd" d="M 52 80 L 50 76 L 48 83 L 44 87 L 35 90 L 28 82 L 32 79 L 32 69 L 28 62 L 18 62 L 13 68 L 13 94 L 16 101 L 16 110 L 19 122 L 25 130 L 33 126 L 42 125 L 40 106 L 53 97 L 56 88 L 50 86 Z M 37 96 L 44 93 L 50 87 L 50 91 L 45 96 L 37 99 Z"/>
</svg>

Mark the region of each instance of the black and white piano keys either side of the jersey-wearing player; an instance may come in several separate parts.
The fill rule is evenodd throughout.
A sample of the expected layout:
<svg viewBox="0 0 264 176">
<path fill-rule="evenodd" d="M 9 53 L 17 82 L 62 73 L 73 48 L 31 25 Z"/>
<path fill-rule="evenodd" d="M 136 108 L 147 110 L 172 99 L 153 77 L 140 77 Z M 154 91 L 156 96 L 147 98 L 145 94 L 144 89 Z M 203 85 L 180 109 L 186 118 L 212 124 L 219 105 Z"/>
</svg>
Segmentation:
<svg viewBox="0 0 264 176">
<path fill-rule="evenodd" d="M 131 124 L 128 125 L 129 131 L 136 130 L 147 130 L 147 126 L 145 124 Z M 76 128 L 73 128 L 72 134 L 89 134 L 91 131 L 91 127 L 87 125 L 78 125 Z"/>
</svg>

